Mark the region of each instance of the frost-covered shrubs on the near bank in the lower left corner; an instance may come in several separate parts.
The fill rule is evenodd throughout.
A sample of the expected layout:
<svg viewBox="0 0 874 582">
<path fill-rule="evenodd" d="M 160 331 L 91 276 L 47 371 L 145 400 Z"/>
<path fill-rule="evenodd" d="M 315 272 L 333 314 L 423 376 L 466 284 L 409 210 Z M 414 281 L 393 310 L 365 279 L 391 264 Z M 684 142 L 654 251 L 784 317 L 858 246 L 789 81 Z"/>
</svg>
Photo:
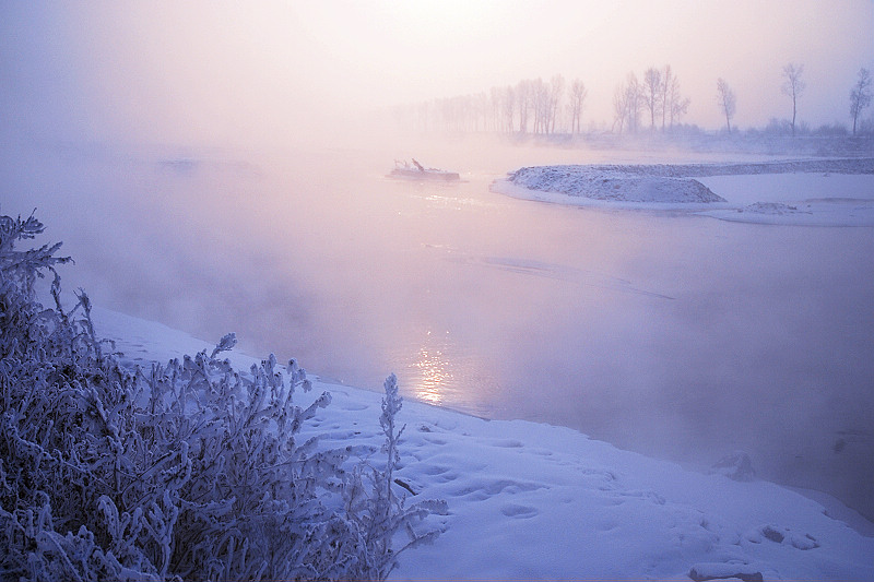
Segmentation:
<svg viewBox="0 0 874 582">
<path fill-rule="evenodd" d="M 61 308 L 60 245 L 0 217 L 0 578 L 3 580 L 385 579 L 437 533 L 414 525 L 445 503 L 405 507 L 397 381 L 386 382 L 385 465 L 363 446 L 326 450 L 302 427 L 320 407 L 292 360 L 248 372 L 211 354 L 127 369 L 98 340 L 83 292 Z M 54 308 L 34 284 L 54 275 Z M 105 349 L 110 347 L 110 349 Z M 395 548 L 398 533 L 409 542 Z"/>
</svg>

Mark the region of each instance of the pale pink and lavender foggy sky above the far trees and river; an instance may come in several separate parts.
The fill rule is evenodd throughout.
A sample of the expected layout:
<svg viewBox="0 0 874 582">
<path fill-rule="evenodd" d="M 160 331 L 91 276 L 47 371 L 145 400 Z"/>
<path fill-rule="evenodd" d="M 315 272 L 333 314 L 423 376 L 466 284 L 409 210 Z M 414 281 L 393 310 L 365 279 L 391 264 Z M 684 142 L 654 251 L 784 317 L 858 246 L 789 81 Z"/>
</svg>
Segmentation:
<svg viewBox="0 0 874 582">
<path fill-rule="evenodd" d="M 2 131 L 64 139 L 279 143 L 362 111 L 560 73 L 589 87 L 583 124 L 612 121 L 628 72 L 670 63 L 721 127 L 791 117 L 780 71 L 803 63 L 800 119 L 848 122 L 874 68 L 874 2 L 3 2 Z"/>
</svg>

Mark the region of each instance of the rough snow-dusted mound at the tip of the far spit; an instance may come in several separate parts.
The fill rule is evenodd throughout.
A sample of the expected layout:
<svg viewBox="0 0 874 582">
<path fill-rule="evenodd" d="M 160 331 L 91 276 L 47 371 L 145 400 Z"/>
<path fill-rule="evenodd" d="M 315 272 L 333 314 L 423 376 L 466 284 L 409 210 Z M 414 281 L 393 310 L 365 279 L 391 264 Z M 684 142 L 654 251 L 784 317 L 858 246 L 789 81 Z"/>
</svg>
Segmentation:
<svg viewBox="0 0 874 582">
<path fill-rule="evenodd" d="M 680 204 L 725 202 L 693 178 L 647 176 L 613 167 L 525 167 L 510 175 L 508 181 L 530 190 L 600 201 Z"/>
</svg>

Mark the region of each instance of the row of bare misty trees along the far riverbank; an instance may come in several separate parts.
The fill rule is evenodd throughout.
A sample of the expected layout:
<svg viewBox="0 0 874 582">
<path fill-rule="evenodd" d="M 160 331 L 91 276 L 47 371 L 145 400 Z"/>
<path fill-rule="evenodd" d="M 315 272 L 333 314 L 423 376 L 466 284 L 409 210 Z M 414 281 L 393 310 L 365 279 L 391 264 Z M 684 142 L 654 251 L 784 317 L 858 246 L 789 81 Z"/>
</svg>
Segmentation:
<svg viewBox="0 0 874 582">
<path fill-rule="evenodd" d="M 849 93 L 850 127 L 834 123 L 812 129 L 800 121 L 801 97 L 807 86 L 804 66 L 789 63 L 783 67 L 781 76 L 781 93 L 787 97 L 787 110 L 791 107 L 791 118 L 771 118 L 764 128 L 766 133 L 793 136 L 874 134 L 874 117 L 863 117 L 872 100 L 872 78 L 867 69 L 860 69 Z M 556 74 L 548 81 L 523 79 L 515 85 L 494 86 L 488 92 L 401 105 L 394 107 L 393 115 L 395 121 L 408 129 L 451 133 L 550 135 L 600 131 L 701 131 L 695 124 L 683 123 L 692 100 L 683 94 L 680 79 L 670 64 L 661 69 L 650 67 L 640 78 L 629 72 L 613 92 L 613 118 L 590 119 L 583 130 L 588 96 L 589 88 L 582 80 L 568 82 Z M 736 131 L 733 119 L 737 111 L 737 96 L 722 78 L 716 82 L 713 104 L 724 120 L 722 129 L 729 133 Z"/>
</svg>

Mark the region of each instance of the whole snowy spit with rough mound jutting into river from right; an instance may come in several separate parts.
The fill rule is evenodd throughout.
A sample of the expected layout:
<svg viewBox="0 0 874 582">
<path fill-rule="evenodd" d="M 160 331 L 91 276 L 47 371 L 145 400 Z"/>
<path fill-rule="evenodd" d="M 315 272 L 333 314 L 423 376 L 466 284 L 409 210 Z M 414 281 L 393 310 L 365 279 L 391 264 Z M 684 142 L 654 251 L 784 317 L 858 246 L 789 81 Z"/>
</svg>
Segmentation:
<svg viewBox="0 0 874 582">
<path fill-rule="evenodd" d="M 524 167 L 498 193 L 580 206 L 684 210 L 724 221 L 874 226 L 874 159 Z"/>
</svg>

